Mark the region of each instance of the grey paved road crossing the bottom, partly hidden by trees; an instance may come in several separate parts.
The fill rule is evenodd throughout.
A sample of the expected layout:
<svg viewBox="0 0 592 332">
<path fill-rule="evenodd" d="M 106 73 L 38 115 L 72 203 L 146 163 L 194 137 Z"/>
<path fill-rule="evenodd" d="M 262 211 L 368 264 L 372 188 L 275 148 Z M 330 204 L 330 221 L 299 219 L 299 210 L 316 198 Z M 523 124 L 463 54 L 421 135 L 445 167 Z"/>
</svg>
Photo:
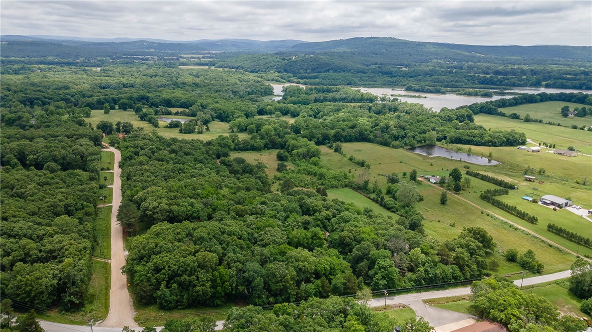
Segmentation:
<svg viewBox="0 0 592 332">
<path fill-rule="evenodd" d="M 571 275 L 571 271 L 562 271 L 562 272 L 557 272 L 554 274 L 533 276 L 530 278 L 525 278 L 522 285 L 527 286 L 527 285 L 540 284 L 542 282 L 564 279 L 570 275 Z M 520 286 L 521 283 L 522 283 L 522 280 L 514 281 L 514 284 L 517 286 Z M 407 304 L 407 305 L 409 305 L 409 304 L 414 305 L 414 303 L 415 303 L 415 304 L 419 305 L 419 302 L 421 302 L 423 300 L 428 300 L 430 298 L 452 297 L 452 296 L 461 296 L 461 295 L 469 295 L 469 294 L 471 294 L 471 288 L 470 287 L 462 287 L 462 288 L 445 289 L 443 291 L 429 291 L 429 292 L 421 292 L 421 293 L 414 293 L 414 294 L 395 295 L 395 296 L 387 297 L 387 305 L 388 304 L 397 304 L 397 303 L 402 303 L 402 304 Z M 417 302 L 417 301 L 419 301 L 419 302 Z M 384 305 L 384 298 L 375 298 L 374 300 L 372 300 L 370 302 L 369 305 L 370 305 L 370 307 L 382 307 Z M 430 311 L 437 312 L 436 310 L 432 310 L 431 307 L 428 307 L 426 309 L 426 312 L 430 312 Z M 446 314 L 448 314 L 448 313 L 450 313 L 450 311 L 446 310 Z M 458 318 L 462 319 L 462 316 L 459 316 Z M 89 326 L 58 324 L 58 323 L 50 323 L 47 321 L 40 321 L 40 322 L 41 322 L 41 326 L 47 332 L 67 332 L 67 331 L 91 332 L 91 328 Z M 443 324 L 446 324 L 445 321 L 442 321 L 442 322 L 443 322 Z M 222 324 L 224 324 L 224 321 L 217 321 L 216 323 L 218 325 L 216 330 L 221 330 Z M 157 330 L 160 331 L 160 328 L 162 328 L 162 327 L 158 327 Z M 101 325 L 101 327 L 95 327 L 94 331 L 96 331 L 96 332 L 121 332 L 121 327 L 102 327 L 102 325 Z M 136 331 L 141 331 L 141 328 L 136 328 Z"/>
</svg>

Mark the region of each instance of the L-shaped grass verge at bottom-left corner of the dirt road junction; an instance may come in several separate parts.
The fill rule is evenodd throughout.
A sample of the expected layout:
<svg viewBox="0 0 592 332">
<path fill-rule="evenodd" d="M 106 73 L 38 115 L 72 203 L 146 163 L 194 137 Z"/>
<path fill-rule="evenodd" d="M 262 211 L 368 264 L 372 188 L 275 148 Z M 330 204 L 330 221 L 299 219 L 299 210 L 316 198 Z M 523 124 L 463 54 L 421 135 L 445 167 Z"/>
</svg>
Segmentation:
<svg viewBox="0 0 592 332">
<path fill-rule="evenodd" d="M 92 260 L 92 278 L 88 285 L 86 305 L 75 313 L 60 313 L 57 310 L 37 311 L 37 319 L 55 323 L 88 326 L 88 322 L 103 320 L 109 313 L 109 290 L 111 288 L 111 265 Z"/>
</svg>

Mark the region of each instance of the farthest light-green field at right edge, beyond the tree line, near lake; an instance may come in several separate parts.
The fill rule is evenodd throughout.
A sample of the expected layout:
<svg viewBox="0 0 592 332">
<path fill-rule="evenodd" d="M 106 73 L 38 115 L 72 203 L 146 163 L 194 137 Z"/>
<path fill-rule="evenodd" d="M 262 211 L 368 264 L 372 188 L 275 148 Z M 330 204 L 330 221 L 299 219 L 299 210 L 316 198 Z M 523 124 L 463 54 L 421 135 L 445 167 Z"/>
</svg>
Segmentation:
<svg viewBox="0 0 592 332">
<path fill-rule="evenodd" d="M 561 108 L 565 105 L 570 106 L 570 110 L 581 107 L 585 107 L 587 109 L 590 107 L 588 105 L 577 103 L 544 102 L 513 106 L 509 108 L 500 108 L 500 110 L 506 114 L 518 113 L 521 118 L 524 118 L 526 113 L 529 113 L 533 119 L 542 119 L 543 122 L 550 121 L 561 123 L 562 125 L 577 125 L 578 127 L 582 125 L 592 125 L 592 116 L 586 116 L 585 118 L 577 118 L 575 116 L 564 118 L 561 116 Z"/>
</svg>

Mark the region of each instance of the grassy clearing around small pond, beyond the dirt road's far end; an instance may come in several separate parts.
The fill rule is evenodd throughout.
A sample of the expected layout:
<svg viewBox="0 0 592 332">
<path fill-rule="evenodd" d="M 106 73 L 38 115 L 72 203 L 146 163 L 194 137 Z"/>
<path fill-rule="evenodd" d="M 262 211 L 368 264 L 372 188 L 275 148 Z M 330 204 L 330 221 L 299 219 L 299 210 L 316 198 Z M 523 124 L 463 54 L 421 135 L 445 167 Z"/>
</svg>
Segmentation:
<svg viewBox="0 0 592 332">
<path fill-rule="evenodd" d="M 171 110 L 182 110 L 178 108 L 172 108 Z M 165 118 L 182 118 L 182 119 L 192 119 L 190 116 L 177 116 L 177 115 L 163 115 Z M 226 122 L 210 122 L 208 125 L 210 126 L 210 131 L 204 132 L 203 134 L 181 134 L 179 133 L 178 128 L 163 128 L 166 126 L 166 121 L 159 121 L 159 128 L 154 128 L 154 126 L 150 125 L 150 123 L 146 121 L 140 121 L 136 113 L 133 111 L 127 110 L 111 110 L 111 113 L 104 114 L 103 110 L 93 110 L 91 114 L 91 118 L 88 119 L 92 125 L 96 126 L 99 121 L 110 121 L 113 124 L 117 121 L 121 122 L 131 122 L 134 127 L 144 128 L 144 131 L 150 132 L 156 130 L 156 132 L 166 138 L 176 137 L 181 139 L 201 139 L 202 141 L 209 141 L 210 139 L 217 138 L 219 135 L 229 135 L 231 134 L 229 129 L 229 124 Z M 245 138 L 248 135 L 244 133 L 237 133 L 240 138 Z"/>
</svg>

